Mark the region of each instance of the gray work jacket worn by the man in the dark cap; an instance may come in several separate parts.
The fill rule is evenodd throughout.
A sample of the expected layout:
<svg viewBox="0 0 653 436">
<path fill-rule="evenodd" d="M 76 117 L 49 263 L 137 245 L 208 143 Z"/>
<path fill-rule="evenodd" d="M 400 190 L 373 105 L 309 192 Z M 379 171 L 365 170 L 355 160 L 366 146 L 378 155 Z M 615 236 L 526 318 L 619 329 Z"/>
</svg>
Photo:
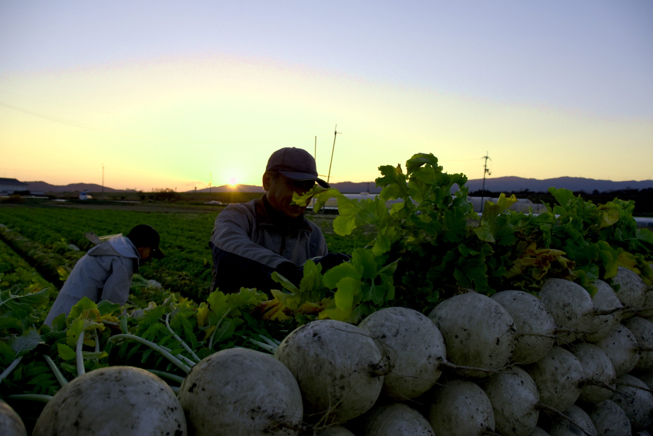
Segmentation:
<svg viewBox="0 0 653 436">
<path fill-rule="evenodd" d="M 223 292 L 278 287 L 270 274 L 283 262 L 302 266 L 328 253 L 317 225 L 303 214 L 279 217 L 264 196 L 227 206 L 215 219 L 209 245 L 214 259 L 211 290 Z"/>
</svg>

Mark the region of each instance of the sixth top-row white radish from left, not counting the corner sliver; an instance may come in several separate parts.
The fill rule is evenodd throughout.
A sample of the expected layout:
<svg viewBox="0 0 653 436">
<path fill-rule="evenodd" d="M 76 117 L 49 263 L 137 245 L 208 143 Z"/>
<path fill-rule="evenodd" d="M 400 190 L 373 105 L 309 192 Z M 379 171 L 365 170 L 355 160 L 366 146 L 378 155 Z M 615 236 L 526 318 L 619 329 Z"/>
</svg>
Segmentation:
<svg viewBox="0 0 653 436">
<path fill-rule="evenodd" d="M 503 306 L 515 322 L 517 339 L 511 360 L 526 365 L 543 358 L 553 347 L 556 322 L 547 306 L 523 290 L 503 290 L 490 298 Z"/>
</svg>

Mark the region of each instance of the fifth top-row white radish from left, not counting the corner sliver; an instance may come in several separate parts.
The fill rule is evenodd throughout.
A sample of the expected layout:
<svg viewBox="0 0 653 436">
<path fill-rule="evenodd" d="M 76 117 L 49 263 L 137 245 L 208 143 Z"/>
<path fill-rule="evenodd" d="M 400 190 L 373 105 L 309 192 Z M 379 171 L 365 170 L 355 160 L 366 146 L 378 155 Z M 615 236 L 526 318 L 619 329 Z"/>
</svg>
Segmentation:
<svg viewBox="0 0 653 436">
<path fill-rule="evenodd" d="M 459 294 L 438 304 L 428 315 L 438 326 L 447 347 L 447 360 L 460 366 L 499 369 L 515 349 L 513 319 L 492 298 Z M 471 377 L 486 377 L 470 371 Z"/>
</svg>

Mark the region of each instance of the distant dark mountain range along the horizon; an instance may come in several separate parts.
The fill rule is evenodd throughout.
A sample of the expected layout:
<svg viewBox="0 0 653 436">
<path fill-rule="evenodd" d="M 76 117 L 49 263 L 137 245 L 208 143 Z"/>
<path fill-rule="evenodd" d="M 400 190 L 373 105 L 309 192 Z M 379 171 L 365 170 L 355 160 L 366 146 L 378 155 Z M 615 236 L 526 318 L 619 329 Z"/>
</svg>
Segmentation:
<svg viewBox="0 0 653 436">
<path fill-rule="evenodd" d="M 91 191 L 99 193 L 102 191 L 102 186 L 96 183 L 71 183 L 69 185 L 50 185 L 44 181 L 27 181 L 29 183 L 29 191 L 40 191 L 48 193 L 61 193 L 61 192 L 75 192 L 75 191 Z M 472 179 L 467 182 L 470 192 L 479 191 L 483 186 L 483 179 Z M 381 188 L 376 187 L 374 181 L 370 182 L 353 182 L 343 181 L 341 183 L 331 183 L 331 186 L 338 189 L 342 193 L 380 193 Z M 554 179 L 526 179 L 521 177 L 498 177 L 485 179 L 485 191 L 490 192 L 518 192 L 518 191 L 532 191 L 532 192 L 546 192 L 549 187 L 565 188 L 571 191 L 584 191 L 592 193 L 596 190 L 599 192 L 605 191 L 619 191 L 621 189 L 646 189 L 653 188 L 653 180 L 629 180 L 629 181 L 611 181 L 611 180 L 596 180 L 586 179 L 582 177 L 558 177 Z M 133 192 L 133 189 L 113 189 L 104 187 L 105 193 L 125 193 Z M 209 188 L 198 189 L 197 191 L 191 190 L 186 192 L 208 193 Z M 257 185 L 221 185 L 211 188 L 213 193 L 256 193 L 263 192 L 263 187 Z"/>
</svg>

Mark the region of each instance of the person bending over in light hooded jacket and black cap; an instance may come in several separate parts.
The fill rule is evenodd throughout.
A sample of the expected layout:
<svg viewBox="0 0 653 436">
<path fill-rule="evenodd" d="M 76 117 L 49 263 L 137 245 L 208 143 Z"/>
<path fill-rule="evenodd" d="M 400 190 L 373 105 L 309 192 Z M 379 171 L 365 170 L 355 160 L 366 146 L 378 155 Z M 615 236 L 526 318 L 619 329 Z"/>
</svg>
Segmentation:
<svg viewBox="0 0 653 436">
<path fill-rule="evenodd" d="M 63 284 L 45 323 L 71 307 L 84 297 L 93 302 L 108 300 L 125 304 L 129 296 L 131 277 L 138 266 L 151 258 L 165 257 L 159 249 L 159 234 L 151 226 L 139 224 L 125 236 L 116 236 L 91 248 L 77 261 L 71 275 Z"/>
</svg>

